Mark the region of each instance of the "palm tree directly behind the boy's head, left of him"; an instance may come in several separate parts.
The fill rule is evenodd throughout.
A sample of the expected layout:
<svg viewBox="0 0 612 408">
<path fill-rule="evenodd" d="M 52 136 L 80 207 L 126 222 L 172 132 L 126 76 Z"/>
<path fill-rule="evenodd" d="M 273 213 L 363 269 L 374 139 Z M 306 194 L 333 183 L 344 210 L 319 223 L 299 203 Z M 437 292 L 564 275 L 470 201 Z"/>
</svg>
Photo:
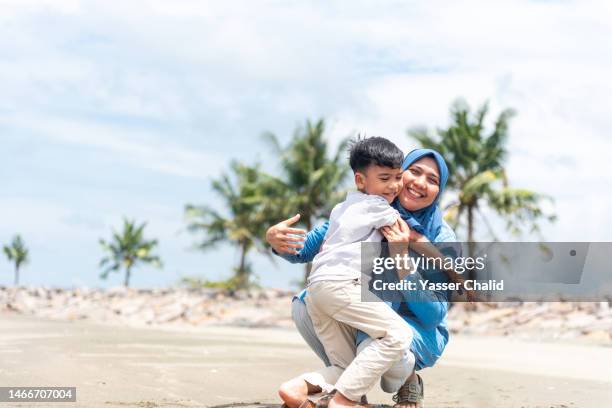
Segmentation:
<svg viewBox="0 0 612 408">
<path fill-rule="evenodd" d="M 340 142 L 336 153 L 330 157 L 330 148 L 324 137 L 325 121 L 306 121 L 298 127 L 289 144 L 281 146 L 272 133 L 264 138 L 272 145 L 280 158 L 284 206 L 279 213 L 301 214 L 300 220 L 311 230 L 317 219 L 329 217 L 334 205 L 344 197 L 342 183 L 349 173 L 346 159 L 348 139 Z M 306 265 L 304 280 L 310 274 Z"/>
</svg>

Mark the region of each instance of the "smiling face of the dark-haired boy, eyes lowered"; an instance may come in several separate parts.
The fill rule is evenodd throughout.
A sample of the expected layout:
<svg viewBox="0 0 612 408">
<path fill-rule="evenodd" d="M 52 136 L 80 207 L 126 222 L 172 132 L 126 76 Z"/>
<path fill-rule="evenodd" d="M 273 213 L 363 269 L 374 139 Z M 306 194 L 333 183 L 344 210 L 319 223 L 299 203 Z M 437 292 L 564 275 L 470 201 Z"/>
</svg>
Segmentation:
<svg viewBox="0 0 612 408">
<path fill-rule="evenodd" d="M 391 203 L 402 190 L 402 169 L 370 165 L 355 173 L 355 184 L 362 193 L 379 195 Z"/>
</svg>

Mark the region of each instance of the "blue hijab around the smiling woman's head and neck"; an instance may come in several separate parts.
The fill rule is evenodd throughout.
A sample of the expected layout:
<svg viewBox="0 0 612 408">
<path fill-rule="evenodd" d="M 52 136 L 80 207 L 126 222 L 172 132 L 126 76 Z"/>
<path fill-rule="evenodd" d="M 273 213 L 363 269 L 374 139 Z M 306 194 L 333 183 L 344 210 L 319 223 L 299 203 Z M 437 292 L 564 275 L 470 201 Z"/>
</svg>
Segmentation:
<svg viewBox="0 0 612 408">
<path fill-rule="evenodd" d="M 446 187 L 446 182 L 448 181 L 448 167 L 446 166 L 446 162 L 442 155 L 435 150 L 415 149 L 406 155 L 402 163 L 402 170 L 408 170 L 408 167 L 410 167 L 412 163 L 427 156 L 435 160 L 438 165 L 438 171 L 440 172 L 440 191 L 435 200 L 427 207 L 416 211 L 408 211 L 402 207 L 399 198 L 396 198 L 391 205 L 400 213 L 411 229 L 419 234 L 425 235 L 427 239 L 434 242 L 442 228 L 442 212 L 440 211 L 438 203 Z"/>
</svg>

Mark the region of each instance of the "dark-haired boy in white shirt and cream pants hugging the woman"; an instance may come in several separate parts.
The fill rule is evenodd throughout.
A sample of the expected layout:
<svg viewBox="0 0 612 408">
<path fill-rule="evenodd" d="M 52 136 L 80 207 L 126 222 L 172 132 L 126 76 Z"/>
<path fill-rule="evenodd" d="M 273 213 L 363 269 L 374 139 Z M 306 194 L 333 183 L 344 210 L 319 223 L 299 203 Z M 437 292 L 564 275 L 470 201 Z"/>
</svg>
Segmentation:
<svg viewBox="0 0 612 408">
<path fill-rule="evenodd" d="M 330 408 L 357 405 L 412 341 L 410 327 L 387 304 L 361 301 L 360 282 L 361 242 L 380 242 L 378 229 L 399 218 L 389 204 L 402 189 L 403 159 L 402 151 L 382 137 L 355 142 L 350 165 L 359 191 L 334 207 L 325 242 L 313 260 L 306 305 L 332 365 L 301 379 L 311 392 L 335 388 Z M 357 357 L 355 329 L 374 339 Z M 283 387 L 279 394 L 290 408 L 300 405 L 286 398 Z"/>
</svg>

